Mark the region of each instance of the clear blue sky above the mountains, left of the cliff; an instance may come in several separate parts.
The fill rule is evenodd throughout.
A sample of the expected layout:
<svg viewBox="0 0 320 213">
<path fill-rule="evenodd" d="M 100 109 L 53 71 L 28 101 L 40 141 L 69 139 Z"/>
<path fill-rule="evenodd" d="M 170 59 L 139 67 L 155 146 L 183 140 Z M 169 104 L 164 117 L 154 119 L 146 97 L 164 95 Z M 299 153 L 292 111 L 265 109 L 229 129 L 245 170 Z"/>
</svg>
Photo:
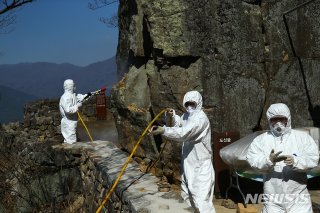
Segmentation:
<svg viewBox="0 0 320 213">
<path fill-rule="evenodd" d="M 2 2 L 0 10 L 4 8 Z M 118 3 L 91 10 L 88 2 L 93 0 L 36 0 L 24 4 L 14 13 L 19 21 L 12 25 L 14 30 L 0 33 L 0 52 L 5 52 L 0 64 L 45 61 L 86 66 L 114 56 L 118 28 L 107 28 L 98 18 L 117 12 Z"/>
</svg>

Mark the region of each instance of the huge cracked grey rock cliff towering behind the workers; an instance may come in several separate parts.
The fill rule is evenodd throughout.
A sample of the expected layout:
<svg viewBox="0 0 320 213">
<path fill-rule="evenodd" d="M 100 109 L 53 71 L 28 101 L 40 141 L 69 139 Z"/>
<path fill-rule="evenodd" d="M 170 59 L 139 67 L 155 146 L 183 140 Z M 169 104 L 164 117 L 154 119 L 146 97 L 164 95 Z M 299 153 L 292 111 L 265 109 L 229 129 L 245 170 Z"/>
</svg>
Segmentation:
<svg viewBox="0 0 320 213">
<path fill-rule="evenodd" d="M 122 147 L 132 151 L 161 110 L 181 115 L 189 90 L 202 95 L 212 142 L 213 132 L 268 129 L 265 111 L 276 102 L 290 108 L 293 128 L 319 125 L 320 3 L 285 16 L 296 55 L 282 17 L 303 2 L 120 0 L 116 60 L 119 78 L 127 75 L 110 99 Z M 135 155 L 155 159 L 161 142 L 145 136 Z M 170 165 L 161 166 L 174 180 L 181 144 L 169 143 Z"/>
</svg>

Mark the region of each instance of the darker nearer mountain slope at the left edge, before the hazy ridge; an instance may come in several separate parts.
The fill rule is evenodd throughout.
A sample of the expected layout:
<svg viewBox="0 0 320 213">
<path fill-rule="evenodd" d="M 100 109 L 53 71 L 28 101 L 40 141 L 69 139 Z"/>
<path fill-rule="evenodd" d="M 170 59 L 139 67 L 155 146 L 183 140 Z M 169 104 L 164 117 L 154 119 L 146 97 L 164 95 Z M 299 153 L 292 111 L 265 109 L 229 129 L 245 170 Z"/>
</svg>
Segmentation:
<svg viewBox="0 0 320 213">
<path fill-rule="evenodd" d="M 25 103 L 40 99 L 34 95 L 0 85 L 0 123 L 8 124 L 21 120 Z"/>
</svg>

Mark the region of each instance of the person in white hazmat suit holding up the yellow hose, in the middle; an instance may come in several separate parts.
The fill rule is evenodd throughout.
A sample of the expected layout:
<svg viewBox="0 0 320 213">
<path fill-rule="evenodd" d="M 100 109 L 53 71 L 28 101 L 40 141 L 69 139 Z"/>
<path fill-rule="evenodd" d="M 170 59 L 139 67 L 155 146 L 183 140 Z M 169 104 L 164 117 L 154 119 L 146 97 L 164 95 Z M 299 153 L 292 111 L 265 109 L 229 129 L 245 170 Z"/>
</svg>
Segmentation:
<svg viewBox="0 0 320 213">
<path fill-rule="evenodd" d="M 148 134 L 162 133 L 165 138 L 182 142 L 181 196 L 194 208 L 194 212 L 214 213 L 211 132 L 209 119 L 202 110 L 201 94 L 198 91 L 187 92 L 183 106 L 188 113 L 180 117 L 173 109 L 166 111 L 166 125 L 152 126 Z M 170 116 L 172 127 L 168 127 Z"/>
</svg>

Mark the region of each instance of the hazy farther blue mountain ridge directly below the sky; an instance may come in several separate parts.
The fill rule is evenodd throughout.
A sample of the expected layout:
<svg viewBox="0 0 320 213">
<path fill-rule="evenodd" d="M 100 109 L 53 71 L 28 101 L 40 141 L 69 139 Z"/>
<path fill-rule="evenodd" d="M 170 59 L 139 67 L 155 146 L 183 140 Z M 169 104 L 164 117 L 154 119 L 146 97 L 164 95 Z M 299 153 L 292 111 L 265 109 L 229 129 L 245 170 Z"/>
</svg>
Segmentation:
<svg viewBox="0 0 320 213">
<path fill-rule="evenodd" d="M 1 64 L 0 75 L 0 85 L 41 98 L 60 97 L 65 79 L 75 82 L 76 93 L 107 87 L 107 96 L 117 83 L 115 56 L 85 67 L 49 62 Z"/>
</svg>

